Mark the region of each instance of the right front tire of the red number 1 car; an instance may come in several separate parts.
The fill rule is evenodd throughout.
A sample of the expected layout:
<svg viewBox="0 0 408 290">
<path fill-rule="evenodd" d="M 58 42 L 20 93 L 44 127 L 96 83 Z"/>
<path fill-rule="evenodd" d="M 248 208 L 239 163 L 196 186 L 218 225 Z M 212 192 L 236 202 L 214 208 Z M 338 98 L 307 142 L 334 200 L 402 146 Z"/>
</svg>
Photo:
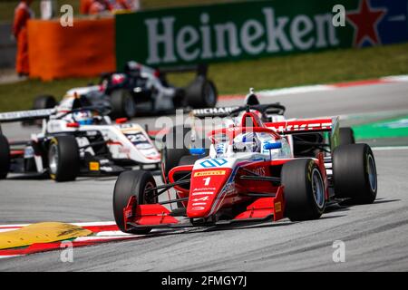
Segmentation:
<svg viewBox="0 0 408 290">
<path fill-rule="evenodd" d="M 314 160 L 291 160 L 281 173 L 285 216 L 292 221 L 320 218 L 325 210 L 325 185 Z"/>
</svg>

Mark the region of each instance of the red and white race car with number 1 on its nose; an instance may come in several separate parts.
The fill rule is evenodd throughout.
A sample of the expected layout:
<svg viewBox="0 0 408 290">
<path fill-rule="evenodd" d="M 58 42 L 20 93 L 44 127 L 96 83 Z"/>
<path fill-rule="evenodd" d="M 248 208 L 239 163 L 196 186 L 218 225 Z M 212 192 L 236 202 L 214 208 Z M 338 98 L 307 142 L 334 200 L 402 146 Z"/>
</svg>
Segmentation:
<svg viewBox="0 0 408 290">
<path fill-rule="evenodd" d="M 123 172 L 113 192 L 113 213 L 123 232 L 156 227 L 207 227 L 237 222 L 319 218 L 344 201 L 372 203 L 377 192 L 374 155 L 366 144 L 339 145 L 338 118 L 264 122 L 247 109 L 238 125 L 209 132 L 206 150 L 170 169 L 157 186 L 150 172 Z M 293 136 L 320 133 L 328 143 L 316 156 L 294 153 Z M 310 144 L 307 144 L 310 145 Z M 159 202 L 175 189 L 177 198 Z M 170 210 L 166 204 L 177 203 Z"/>
</svg>

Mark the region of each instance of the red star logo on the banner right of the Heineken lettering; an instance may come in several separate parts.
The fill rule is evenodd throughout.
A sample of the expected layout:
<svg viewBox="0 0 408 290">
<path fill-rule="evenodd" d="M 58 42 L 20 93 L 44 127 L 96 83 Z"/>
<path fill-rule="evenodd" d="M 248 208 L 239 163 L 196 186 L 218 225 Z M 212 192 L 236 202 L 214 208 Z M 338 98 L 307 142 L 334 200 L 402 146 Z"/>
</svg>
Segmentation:
<svg viewBox="0 0 408 290">
<path fill-rule="evenodd" d="M 369 40 L 373 45 L 381 43 L 377 24 L 384 14 L 386 14 L 386 9 L 372 9 L 368 0 L 360 1 L 357 10 L 346 13 L 348 22 L 355 26 L 354 46 L 362 46 L 364 40 Z"/>
</svg>

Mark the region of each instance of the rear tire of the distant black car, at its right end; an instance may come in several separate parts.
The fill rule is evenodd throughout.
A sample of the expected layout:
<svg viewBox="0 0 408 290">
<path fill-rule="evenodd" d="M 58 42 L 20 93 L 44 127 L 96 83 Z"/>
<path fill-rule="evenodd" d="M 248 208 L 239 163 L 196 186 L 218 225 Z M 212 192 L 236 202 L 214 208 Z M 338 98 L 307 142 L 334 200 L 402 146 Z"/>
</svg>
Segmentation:
<svg viewBox="0 0 408 290">
<path fill-rule="evenodd" d="M 186 88 L 185 97 L 192 108 L 212 108 L 218 100 L 218 92 L 214 82 L 199 76 Z"/>
</svg>

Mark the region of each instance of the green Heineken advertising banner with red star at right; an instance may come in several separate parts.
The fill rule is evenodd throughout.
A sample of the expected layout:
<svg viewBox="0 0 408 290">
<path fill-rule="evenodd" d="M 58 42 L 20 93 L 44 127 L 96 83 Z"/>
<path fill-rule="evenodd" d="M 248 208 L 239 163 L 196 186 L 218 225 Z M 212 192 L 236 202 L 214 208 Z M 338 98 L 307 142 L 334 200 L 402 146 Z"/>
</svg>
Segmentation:
<svg viewBox="0 0 408 290">
<path fill-rule="evenodd" d="M 275 0 L 116 15 L 118 69 L 408 41 L 408 0 Z"/>
</svg>

